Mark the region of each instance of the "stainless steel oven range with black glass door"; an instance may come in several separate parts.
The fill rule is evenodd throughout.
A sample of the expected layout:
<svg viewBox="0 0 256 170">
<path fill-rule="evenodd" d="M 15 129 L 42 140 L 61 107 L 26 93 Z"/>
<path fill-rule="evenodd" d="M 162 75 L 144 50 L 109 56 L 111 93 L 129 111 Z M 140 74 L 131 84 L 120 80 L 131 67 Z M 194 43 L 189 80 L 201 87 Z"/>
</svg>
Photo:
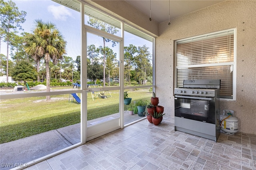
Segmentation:
<svg viewBox="0 0 256 170">
<path fill-rule="evenodd" d="M 220 135 L 220 80 L 184 80 L 174 89 L 175 130 L 217 142 Z"/>
</svg>

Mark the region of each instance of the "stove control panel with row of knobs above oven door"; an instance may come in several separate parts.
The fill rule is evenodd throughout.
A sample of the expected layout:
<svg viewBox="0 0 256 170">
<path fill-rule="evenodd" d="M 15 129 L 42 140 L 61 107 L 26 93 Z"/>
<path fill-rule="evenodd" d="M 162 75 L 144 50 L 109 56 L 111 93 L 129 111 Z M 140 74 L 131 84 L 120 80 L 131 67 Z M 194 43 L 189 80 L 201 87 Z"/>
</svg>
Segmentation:
<svg viewBox="0 0 256 170">
<path fill-rule="evenodd" d="M 175 88 L 174 95 L 214 97 L 215 91 L 219 89 L 182 89 Z"/>
</svg>

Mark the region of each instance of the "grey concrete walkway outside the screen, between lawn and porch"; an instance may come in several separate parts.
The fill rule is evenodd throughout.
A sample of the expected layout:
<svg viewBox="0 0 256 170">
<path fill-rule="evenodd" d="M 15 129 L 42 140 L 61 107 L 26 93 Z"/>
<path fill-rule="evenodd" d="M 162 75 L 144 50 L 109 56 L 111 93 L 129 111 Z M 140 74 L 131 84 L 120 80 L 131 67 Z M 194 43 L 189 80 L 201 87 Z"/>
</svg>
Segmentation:
<svg viewBox="0 0 256 170">
<path fill-rule="evenodd" d="M 115 114 L 110 116 L 116 117 Z M 102 117 L 88 123 L 93 125 L 106 118 Z M 141 118 L 143 117 L 138 117 L 137 114 L 129 115 L 126 112 L 124 124 Z M 12 169 L 17 164 L 25 164 L 78 142 L 80 142 L 80 123 L 0 144 L 0 170 Z"/>
</svg>

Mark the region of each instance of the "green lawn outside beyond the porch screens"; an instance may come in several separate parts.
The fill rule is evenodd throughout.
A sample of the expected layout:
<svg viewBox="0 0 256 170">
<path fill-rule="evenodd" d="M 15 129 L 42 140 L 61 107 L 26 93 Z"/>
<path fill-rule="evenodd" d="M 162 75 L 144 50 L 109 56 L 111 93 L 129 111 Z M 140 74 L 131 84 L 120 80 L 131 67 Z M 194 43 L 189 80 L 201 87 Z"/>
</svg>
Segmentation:
<svg viewBox="0 0 256 170">
<path fill-rule="evenodd" d="M 149 101 L 152 95 L 148 89 L 129 90 L 128 94 L 132 101 Z M 119 113 L 119 93 L 111 91 L 111 95 L 112 98 L 93 101 L 88 93 L 88 121 Z M 1 100 L 0 143 L 80 123 L 80 105 L 68 102 L 68 97 L 51 96 L 50 101 L 45 101 L 46 97 Z"/>
</svg>

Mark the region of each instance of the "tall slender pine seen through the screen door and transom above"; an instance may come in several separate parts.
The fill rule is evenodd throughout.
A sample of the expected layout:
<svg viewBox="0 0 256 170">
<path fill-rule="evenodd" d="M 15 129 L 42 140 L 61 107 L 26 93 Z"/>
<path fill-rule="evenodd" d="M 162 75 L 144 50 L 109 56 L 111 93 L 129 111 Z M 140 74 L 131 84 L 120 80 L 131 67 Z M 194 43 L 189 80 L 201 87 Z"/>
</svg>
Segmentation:
<svg viewBox="0 0 256 170">
<path fill-rule="evenodd" d="M 102 30 L 104 32 L 108 32 L 110 34 L 116 34 L 118 32 L 118 29 L 116 29 L 114 26 L 110 26 L 106 22 L 99 21 L 95 18 L 89 18 L 88 24 L 90 24 L 92 27 L 97 28 L 98 30 Z M 110 42 L 110 39 L 104 38 L 103 37 L 103 49 L 106 47 L 106 42 Z M 116 45 L 115 41 L 112 42 L 112 47 Z M 103 85 L 105 87 L 105 69 L 106 69 L 106 56 L 105 52 L 103 52 Z"/>
</svg>

